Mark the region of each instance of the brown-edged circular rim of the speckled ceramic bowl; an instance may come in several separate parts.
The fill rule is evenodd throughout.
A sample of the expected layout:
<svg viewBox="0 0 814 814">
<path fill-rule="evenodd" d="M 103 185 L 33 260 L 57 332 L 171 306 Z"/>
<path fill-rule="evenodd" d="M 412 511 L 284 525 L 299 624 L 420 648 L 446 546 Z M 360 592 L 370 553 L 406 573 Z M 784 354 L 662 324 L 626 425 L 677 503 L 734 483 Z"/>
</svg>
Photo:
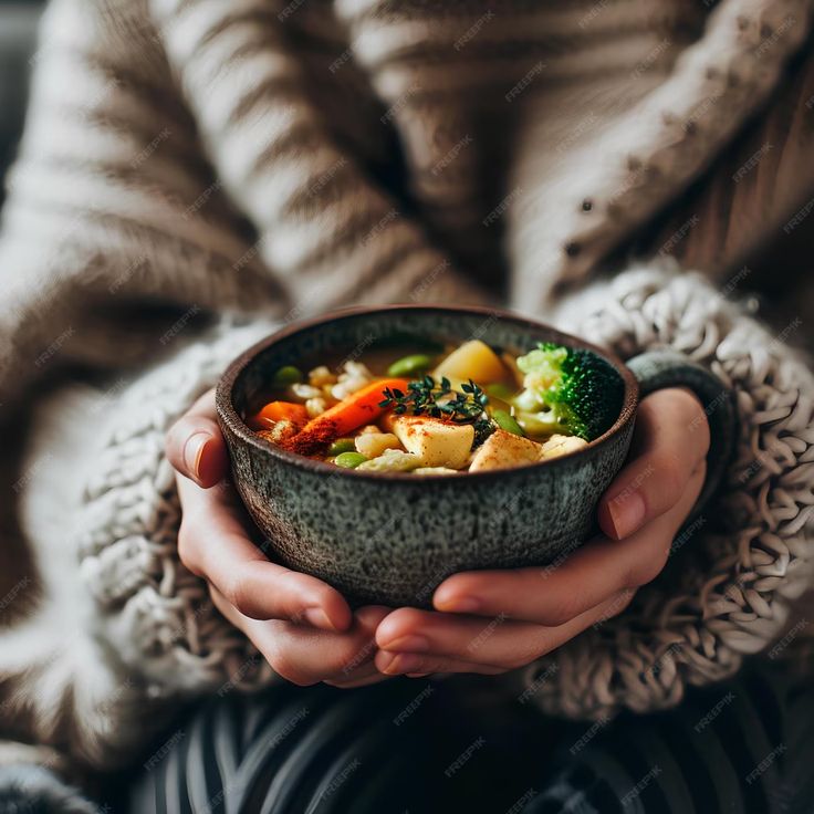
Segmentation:
<svg viewBox="0 0 814 814">
<path fill-rule="evenodd" d="M 382 313 L 382 312 L 394 312 L 394 311 L 428 311 L 428 312 L 446 312 L 452 314 L 467 314 L 473 316 L 493 317 L 497 320 L 509 321 L 514 323 L 521 328 L 540 331 L 543 330 L 552 335 L 553 341 L 562 345 L 570 345 L 573 347 L 584 348 L 592 351 L 593 353 L 607 359 L 616 368 L 617 373 L 622 376 L 625 383 L 625 393 L 622 401 L 622 409 L 617 419 L 614 424 L 601 436 L 588 441 L 587 447 L 575 450 L 573 452 L 566 452 L 565 455 L 551 458 L 550 460 L 539 461 L 536 463 L 525 463 L 518 467 L 508 467 L 505 469 L 491 469 L 483 472 L 459 472 L 452 474 L 425 474 L 420 478 L 416 478 L 410 472 L 359 472 L 356 469 L 344 469 L 337 467 L 327 461 L 316 460 L 314 458 L 307 458 L 306 456 L 298 455 L 296 452 L 290 452 L 271 441 L 267 441 L 264 438 L 258 436 L 238 414 L 234 408 L 232 400 L 232 393 L 234 385 L 240 374 L 254 361 L 261 353 L 265 353 L 270 347 L 278 344 L 279 342 L 286 340 L 302 331 L 309 331 L 326 323 L 335 322 L 337 320 L 349 320 L 358 316 L 366 316 L 369 314 Z M 250 347 L 246 348 L 240 355 L 238 355 L 226 368 L 222 376 L 218 380 L 216 388 L 216 410 L 218 414 L 218 420 L 222 425 L 226 425 L 229 430 L 238 436 L 243 442 L 270 455 L 272 458 L 286 463 L 289 466 L 296 467 L 298 469 L 304 469 L 310 472 L 324 473 L 333 477 L 347 477 L 357 478 L 366 481 L 386 482 L 386 481 L 407 481 L 410 483 L 428 482 L 428 483 L 453 483 L 465 479 L 467 482 L 470 481 L 490 481 L 500 478 L 511 477 L 523 472 L 533 472 L 543 467 L 547 469 L 556 469 L 557 467 L 570 466 L 574 460 L 580 458 L 593 457 L 598 450 L 608 445 L 608 442 L 618 435 L 635 417 L 636 408 L 638 406 L 639 386 L 636 377 L 629 367 L 614 353 L 606 351 L 605 348 L 598 347 L 585 340 L 581 340 L 577 336 L 563 333 L 547 323 L 531 317 L 512 313 L 503 309 L 493 309 L 482 305 L 441 305 L 435 303 L 393 303 L 386 305 L 352 305 L 348 307 L 336 309 L 320 316 L 309 317 L 301 320 L 295 323 L 285 325 L 273 334 L 255 342 Z"/>
</svg>

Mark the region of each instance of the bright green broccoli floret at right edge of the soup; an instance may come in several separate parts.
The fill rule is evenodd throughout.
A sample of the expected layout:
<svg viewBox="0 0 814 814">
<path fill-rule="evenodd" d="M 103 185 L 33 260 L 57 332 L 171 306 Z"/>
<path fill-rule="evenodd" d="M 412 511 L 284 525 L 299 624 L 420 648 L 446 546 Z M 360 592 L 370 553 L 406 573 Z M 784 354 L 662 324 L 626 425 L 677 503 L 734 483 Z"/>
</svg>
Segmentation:
<svg viewBox="0 0 814 814">
<path fill-rule="evenodd" d="M 525 389 L 514 406 L 533 435 L 565 432 L 591 441 L 619 415 L 622 377 L 591 351 L 541 343 L 518 358 L 518 367 L 525 374 Z"/>
</svg>

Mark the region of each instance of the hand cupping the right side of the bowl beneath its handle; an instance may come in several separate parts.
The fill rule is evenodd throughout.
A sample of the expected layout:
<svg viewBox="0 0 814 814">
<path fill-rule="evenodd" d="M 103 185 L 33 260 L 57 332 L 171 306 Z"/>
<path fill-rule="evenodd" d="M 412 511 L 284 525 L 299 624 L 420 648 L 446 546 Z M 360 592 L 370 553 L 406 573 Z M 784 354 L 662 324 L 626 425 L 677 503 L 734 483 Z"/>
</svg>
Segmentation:
<svg viewBox="0 0 814 814">
<path fill-rule="evenodd" d="M 526 665 L 629 604 L 654 580 L 703 486 L 709 425 L 683 388 L 643 399 L 630 458 L 602 498 L 604 535 L 556 567 L 446 580 L 436 612 L 399 608 L 376 630 L 386 675 L 499 674 Z"/>
</svg>

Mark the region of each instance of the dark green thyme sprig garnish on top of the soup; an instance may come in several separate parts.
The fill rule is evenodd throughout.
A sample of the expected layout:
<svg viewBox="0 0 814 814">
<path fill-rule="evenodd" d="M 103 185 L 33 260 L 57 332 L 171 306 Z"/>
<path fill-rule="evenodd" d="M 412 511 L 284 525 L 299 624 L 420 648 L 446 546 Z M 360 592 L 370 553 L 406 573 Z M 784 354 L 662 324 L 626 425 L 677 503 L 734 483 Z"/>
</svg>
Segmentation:
<svg viewBox="0 0 814 814">
<path fill-rule="evenodd" d="M 383 390 L 384 400 L 379 407 L 392 408 L 396 415 L 404 415 L 409 410 L 414 416 L 431 416 L 446 418 L 458 424 L 470 424 L 480 419 L 489 397 L 470 378 L 461 385 L 460 390 L 453 390 L 449 379 L 443 376 L 437 383 L 432 376 L 424 376 L 407 385 L 407 393 L 389 387 Z"/>
</svg>

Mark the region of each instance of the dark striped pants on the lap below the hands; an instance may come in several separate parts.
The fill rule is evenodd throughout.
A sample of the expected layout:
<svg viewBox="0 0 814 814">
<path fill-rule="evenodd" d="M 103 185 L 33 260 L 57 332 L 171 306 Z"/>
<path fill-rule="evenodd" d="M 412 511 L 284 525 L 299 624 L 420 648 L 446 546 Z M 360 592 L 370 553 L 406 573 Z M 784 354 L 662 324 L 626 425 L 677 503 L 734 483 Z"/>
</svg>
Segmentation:
<svg viewBox="0 0 814 814">
<path fill-rule="evenodd" d="M 814 686 L 784 666 L 594 723 L 545 718 L 493 687 L 403 679 L 220 698 L 154 744 L 113 810 L 814 812 Z"/>
</svg>

